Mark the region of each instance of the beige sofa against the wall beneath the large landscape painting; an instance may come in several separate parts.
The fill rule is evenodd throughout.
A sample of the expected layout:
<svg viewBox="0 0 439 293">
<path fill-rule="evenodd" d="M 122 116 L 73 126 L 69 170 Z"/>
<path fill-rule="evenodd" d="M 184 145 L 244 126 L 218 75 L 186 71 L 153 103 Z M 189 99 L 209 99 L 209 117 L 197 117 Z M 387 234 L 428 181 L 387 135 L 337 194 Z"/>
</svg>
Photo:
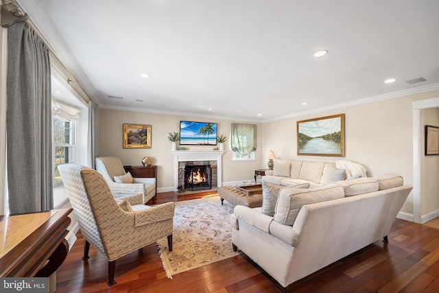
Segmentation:
<svg viewBox="0 0 439 293">
<path fill-rule="evenodd" d="M 331 163 L 276 159 L 274 169 L 265 171 L 262 181 L 283 186 L 309 183 L 311 187 L 318 187 L 364 176 L 366 169 L 362 165 L 346 160 Z"/>
</svg>

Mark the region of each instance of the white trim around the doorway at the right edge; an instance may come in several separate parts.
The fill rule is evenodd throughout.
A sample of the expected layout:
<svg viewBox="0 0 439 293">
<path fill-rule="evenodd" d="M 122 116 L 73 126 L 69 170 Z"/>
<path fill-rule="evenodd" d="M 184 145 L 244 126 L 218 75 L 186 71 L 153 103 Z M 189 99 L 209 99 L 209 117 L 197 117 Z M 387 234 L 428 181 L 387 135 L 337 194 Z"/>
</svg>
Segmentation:
<svg viewBox="0 0 439 293">
<path fill-rule="evenodd" d="M 421 166 L 420 158 L 422 154 L 420 110 L 428 108 L 438 108 L 439 97 L 431 99 L 421 99 L 412 102 L 413 108 L 413 222 L 422 224 L 422 215 L 420 214 L 420 202 L 422 200 L 421 190 Z"/>
</svg>

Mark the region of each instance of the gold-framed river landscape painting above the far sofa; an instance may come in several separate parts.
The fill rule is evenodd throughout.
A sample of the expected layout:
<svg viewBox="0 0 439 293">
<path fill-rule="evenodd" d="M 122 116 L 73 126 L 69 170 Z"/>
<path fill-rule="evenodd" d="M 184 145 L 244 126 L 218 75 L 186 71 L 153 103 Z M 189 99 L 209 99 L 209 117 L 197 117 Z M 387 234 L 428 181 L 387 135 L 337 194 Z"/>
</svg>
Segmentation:
<svg viewBox="0 0 439 293">
<path fill-rule="evenodd" d="M 344 156 L 344 114 L 297 121 L 297 154 Z"/>
</svg>

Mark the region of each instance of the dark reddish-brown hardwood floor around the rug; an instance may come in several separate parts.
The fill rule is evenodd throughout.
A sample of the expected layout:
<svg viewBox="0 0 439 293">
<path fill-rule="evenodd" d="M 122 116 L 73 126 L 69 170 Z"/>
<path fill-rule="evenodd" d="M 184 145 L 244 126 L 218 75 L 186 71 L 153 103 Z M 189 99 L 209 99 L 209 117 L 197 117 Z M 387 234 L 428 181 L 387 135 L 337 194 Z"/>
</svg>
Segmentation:
<svg viewBox="0 0 439 293">
<path fill-rule="evenodd" d="M 215 192 L 214 192 L 215 193 Z M 212 194 L 162 193 L 157 203 Z M 219 204 L 219 202 L 218 202 Z M 230 244 L 231 245 L 231 244 Z M 107 260 L 93 247 L 82 261 L 78 240 L 57 271 L 56 292 L 280 292 L 246 255 L 217 261 L 167 279 L 155 244 L 117 261 L 117 284 L 106 285 Z M 300 269 L 300 268 L 298 268 Z M 439 292 L 439 229 L 396 219 L 389 244 L 370 244 L 292 284 L 292 292 Z"/>
</svg>

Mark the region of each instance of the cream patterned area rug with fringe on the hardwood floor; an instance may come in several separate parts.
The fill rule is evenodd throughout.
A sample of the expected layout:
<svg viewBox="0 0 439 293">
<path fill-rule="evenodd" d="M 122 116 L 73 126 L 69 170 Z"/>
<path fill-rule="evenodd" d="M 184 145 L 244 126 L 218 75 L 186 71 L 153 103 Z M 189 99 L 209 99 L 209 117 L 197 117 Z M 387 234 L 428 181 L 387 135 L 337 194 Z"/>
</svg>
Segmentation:
<svg viewBox="0 0 439 293">
<path fill-rule="evenodd" d="M 176 202 L 172 251 L 167 238 L 158 240 L 167 277 L 239 255 L 232 249 L 229 215 L 234 206 L 219 196 Z"/>
</svg>

